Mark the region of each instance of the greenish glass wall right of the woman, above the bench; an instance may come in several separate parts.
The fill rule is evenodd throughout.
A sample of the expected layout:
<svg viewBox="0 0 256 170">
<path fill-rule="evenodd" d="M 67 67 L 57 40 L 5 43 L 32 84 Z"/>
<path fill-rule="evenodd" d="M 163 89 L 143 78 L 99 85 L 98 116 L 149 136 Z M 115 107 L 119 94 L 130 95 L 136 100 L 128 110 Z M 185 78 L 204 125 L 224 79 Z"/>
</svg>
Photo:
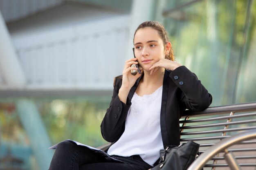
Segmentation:
<svg viewBox="0 0 256 170">
<path fill-rule="evenodd" d="M 166 0 L 176 60 L 196 73 L 219 106 L 256 101 L 255 0 Z"/>
</svg>

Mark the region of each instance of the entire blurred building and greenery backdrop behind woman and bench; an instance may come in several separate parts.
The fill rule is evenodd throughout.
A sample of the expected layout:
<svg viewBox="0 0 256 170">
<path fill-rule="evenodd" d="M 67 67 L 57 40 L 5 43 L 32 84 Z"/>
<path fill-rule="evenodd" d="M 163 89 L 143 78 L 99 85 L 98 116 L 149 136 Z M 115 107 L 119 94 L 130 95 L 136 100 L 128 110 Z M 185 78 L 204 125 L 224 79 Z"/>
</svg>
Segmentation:
<svg viewBox="0 0 256 170">
<path fill-rule="evenodd" d="M 0 170 L 46 170 L 50 146 L 100 146 L 137 26 L 167 29 L 211 106 L 256 101 L 256 0 L 0 0 Z"/>
</svg>

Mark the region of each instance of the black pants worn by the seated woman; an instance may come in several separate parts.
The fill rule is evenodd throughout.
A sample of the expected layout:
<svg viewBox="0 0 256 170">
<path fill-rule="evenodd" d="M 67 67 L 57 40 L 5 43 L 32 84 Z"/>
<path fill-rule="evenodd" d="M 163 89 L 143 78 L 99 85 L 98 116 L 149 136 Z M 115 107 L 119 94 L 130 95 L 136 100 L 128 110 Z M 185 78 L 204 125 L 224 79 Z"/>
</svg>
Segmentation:
<svg viewBox="0 0 256 170">
<path fill-rule="evenodd" d="M 49 170 L 148 170 L 152 168 L 139 155 L 120 157 L 113 155 L 113 161 L 72 141 L 58 144 Z"/>
</svg>

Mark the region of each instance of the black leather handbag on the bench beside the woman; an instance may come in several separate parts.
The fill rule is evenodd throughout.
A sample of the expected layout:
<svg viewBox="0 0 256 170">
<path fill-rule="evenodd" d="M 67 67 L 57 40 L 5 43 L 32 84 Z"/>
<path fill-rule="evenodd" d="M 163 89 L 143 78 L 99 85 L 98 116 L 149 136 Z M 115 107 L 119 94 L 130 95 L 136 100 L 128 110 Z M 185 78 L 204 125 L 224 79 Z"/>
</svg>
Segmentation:
<svg viewBox="0 0 256 170">
<path fill-rule="evenodd" d="M 180 146 L 160 150 L 159 164 L 150 170 L 186 170 L 198 155 L 199 144 L 188 141 Z"/>
</svg>

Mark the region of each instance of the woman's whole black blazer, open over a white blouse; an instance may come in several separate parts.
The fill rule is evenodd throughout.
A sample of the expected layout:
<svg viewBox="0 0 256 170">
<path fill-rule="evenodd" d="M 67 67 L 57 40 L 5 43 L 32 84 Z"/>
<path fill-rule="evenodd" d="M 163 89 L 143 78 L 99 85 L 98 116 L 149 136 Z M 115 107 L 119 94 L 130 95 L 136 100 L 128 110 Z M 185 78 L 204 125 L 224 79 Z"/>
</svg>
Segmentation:
<svg viewBox="0 0 256 170">
<path fill-rule="evenodd" d="M 131 99 L 142 76 L 144 75 L 142 74 L 130 89 L 126 104 L 121 102 L 118 97 L 122 79 L 120 76 L 115 77 L 112 100 L 101 122 L 101 134 L 106 141 L 112 142 L 112 144 L 124 132 Z M 168 145 L 180 144 L 179 119 L 184 110 L 201 111 L 207 108 L 211 101 L 211 94 L 204 88 L 196 75 L 185 66 L 180 66 L 174 71 L 165 71 L 160 113 L 164 148 Z"/>
</svg>

